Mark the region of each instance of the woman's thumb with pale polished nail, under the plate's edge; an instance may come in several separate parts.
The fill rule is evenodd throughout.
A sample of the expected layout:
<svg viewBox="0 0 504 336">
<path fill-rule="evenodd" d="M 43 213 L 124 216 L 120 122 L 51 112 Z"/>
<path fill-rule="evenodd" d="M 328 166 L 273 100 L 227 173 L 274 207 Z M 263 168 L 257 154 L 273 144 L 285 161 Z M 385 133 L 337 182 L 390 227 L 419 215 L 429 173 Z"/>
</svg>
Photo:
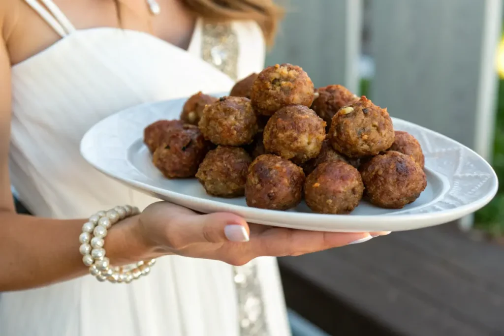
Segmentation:
<svg viewBox="0 0 504 336">
<path fill-rule="evenodd" d="M 180 226 L 175 231 L 181 235 L 181 241 L 187 245 L 249 240 L 250 230 L 247 222 L 231 213 L 186 214 L 174 219 L 174 222 L 176 223 L 174 225 Z"/>
</svg>

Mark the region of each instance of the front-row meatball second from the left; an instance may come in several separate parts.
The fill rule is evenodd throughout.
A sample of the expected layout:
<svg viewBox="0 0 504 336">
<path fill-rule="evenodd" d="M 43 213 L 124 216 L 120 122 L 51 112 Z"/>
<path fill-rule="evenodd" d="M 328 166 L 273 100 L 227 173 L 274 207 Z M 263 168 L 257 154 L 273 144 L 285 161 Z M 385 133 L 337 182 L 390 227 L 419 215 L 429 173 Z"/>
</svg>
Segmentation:
<svg viewBox="0 0 504 336">
<path fill-rule="evenodd" d="M 218 146 L 205 156 L 196 178 L 210 195 L 243 196 L 251 162 L 252 159 L 243 148 Z"/>
</svg>

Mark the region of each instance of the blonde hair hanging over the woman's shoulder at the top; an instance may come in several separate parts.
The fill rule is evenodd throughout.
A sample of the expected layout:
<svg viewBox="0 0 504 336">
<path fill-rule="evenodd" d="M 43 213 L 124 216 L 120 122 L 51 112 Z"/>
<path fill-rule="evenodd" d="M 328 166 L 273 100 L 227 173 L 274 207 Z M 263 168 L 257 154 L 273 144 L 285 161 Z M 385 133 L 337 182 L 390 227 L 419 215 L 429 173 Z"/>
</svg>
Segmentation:
<svg viewBox="0 0 504 336">
<path fill-rule="evenodd" d="M 283 9 L 273 0 L 182 0 L 195 14 L 215 21 L 254 20 L 272 45 Z"/>
</svg>

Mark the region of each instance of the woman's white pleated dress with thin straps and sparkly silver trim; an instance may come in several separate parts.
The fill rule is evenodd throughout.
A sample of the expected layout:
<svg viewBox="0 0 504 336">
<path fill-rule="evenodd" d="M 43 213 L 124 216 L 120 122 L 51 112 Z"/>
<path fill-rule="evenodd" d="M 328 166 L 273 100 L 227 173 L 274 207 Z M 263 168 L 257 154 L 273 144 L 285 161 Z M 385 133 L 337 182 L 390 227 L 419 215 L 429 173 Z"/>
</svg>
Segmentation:
<svg viewBox="0 0 504 336">
<path fill-rule="evenodd" d="M 132 30 L 75 30 L 49 0 L 43 2 L 51 14 L 25 1 L 62 36 L 12 69 L 11 179 L 36 216 L 87 218 L 115 205 L 142 209 L 156 201 L 87 164 L 79 154 L 85 131 L 143 102 L 229 90 L 264 67 L 255 23 L 199 20 L 185 51 Z M 0 335 L 288 336 L 290 330 L 275 258 L 232 267 L 166 256 L 129 285 L 85 276 L 1 293 Z"/>
</svg>

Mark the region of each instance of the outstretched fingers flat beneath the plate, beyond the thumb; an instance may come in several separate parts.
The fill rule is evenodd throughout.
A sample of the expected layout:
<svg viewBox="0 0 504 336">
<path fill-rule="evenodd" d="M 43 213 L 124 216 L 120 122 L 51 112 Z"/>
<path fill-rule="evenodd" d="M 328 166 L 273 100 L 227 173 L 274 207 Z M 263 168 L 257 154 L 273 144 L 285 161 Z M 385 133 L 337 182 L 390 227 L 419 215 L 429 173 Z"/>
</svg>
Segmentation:
<svg viewBox="0 0 504 336">
<path fill-rule="evenodd" d="M 273 228 L 250 240 L 256 256 L 286 256 L 317 252 L 371 239 L 365 233 L 337 233 Z"/>
</svg>

